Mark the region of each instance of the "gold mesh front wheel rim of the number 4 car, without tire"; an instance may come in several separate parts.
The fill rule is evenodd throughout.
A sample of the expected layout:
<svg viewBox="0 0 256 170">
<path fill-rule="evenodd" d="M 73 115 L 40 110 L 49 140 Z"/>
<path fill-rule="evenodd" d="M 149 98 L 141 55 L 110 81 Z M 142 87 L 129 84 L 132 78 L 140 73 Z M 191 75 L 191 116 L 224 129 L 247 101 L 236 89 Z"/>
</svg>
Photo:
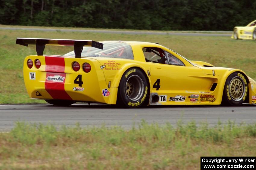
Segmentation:
<svg viewBox="0 0 256 170">
<path fill-rule="evenodd" d="M 235 101 L 240 101 L 245 95 L 245 82 L 241 77 L 236 76 L 229 83 L 230 97 Z"/>
</svg>

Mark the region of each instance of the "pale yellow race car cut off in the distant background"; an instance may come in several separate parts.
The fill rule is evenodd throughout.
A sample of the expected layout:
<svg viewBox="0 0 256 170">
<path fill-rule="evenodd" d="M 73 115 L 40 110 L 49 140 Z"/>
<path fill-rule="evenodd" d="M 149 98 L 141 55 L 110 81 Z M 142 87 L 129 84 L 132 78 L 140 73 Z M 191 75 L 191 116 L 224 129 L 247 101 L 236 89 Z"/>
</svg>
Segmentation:
<svg viewBox="0 0 256 170">
<path fill-rule="evenodd" d="M 231 36 L 233 39 L 256 39 L 256 20 L 247 26 L 236 26 Z"/>
</svg>

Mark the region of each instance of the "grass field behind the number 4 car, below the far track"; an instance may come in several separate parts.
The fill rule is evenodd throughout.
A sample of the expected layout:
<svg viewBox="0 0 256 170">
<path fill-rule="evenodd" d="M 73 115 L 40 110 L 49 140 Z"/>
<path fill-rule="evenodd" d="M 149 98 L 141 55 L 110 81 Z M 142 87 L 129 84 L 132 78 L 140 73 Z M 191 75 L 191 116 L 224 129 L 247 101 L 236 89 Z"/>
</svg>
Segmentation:
<svg viewBox="0 0 256 170">
<path fill-rule="evenodd" d="M 44 102 L 43 100 L 31 100 L 27 96 L 23 82 L 23 60 L 27 55 L 36 54 L 36 50 L 33 45 L 25 47 L 15 44 L 17 37 L 158 42 L 189 60 L 200 60 L 215 66 L 238 68 L 244 70 L 252 79 L 256 79 L 256 41 L 210 36 L 130 35 L 0 29 L 0 104 Z M 47 46 L 44 54 L 65 54 L 72 49 L 72 47 Z"/>
</svg>

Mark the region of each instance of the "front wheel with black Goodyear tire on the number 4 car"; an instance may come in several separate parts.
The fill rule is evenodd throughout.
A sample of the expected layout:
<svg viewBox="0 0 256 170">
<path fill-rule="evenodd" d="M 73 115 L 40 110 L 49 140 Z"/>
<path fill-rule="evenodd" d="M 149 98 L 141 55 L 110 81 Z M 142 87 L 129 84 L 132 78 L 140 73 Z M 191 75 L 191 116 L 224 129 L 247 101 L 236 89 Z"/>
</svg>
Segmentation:
<svg viewBox="0 0 256 170">
<path fill-rule="evenodd" d="M 228 76 L 224 85 L 222 104 L 240 106 L 248 95 L 248 84 L 243 73 L 235 72 Z"/>
</svg>

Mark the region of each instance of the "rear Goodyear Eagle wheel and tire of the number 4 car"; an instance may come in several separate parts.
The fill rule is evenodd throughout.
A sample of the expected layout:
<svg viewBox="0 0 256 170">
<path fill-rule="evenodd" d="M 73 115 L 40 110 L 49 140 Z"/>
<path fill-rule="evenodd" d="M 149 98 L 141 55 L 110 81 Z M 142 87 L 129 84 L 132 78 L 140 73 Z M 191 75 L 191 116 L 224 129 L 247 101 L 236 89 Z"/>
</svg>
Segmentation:
<svg viewBox="0 0 256 170">
<path fill-rule="evenodd" d="M 140 107 L 148 101 L 148 81 L 138 68 L 130 68 L 123 74 L 118 87 L 117 105 L 124 107 Z"/>
</svg>

